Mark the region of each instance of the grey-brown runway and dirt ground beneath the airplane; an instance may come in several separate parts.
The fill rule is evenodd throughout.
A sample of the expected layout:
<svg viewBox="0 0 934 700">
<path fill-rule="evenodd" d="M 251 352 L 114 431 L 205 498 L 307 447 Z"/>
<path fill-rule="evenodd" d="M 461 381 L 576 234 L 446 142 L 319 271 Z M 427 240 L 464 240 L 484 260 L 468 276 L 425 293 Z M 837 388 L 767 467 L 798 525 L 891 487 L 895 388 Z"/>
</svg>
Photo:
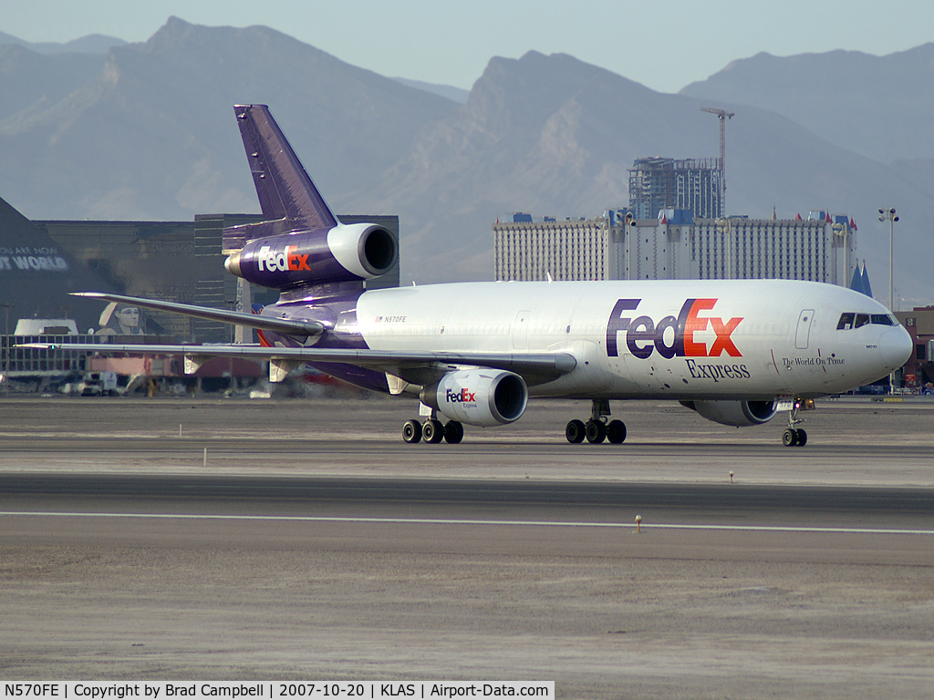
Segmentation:
<svg viewBox="0 0 934 700">
<path fill-rule="evenodd" d="M 412 446 L 388 401 L 0 401 L 0 677 L 929 697 L 930 404 L 800 449 L 636 406 Z"/>
</svg>

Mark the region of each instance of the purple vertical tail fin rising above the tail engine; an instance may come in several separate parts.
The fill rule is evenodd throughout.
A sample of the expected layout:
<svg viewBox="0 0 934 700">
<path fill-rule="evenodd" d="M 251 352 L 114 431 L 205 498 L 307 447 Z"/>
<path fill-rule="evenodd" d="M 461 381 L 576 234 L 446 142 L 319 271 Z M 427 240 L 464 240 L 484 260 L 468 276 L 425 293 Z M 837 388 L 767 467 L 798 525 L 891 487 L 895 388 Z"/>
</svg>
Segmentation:
<svg viewBox="0 0 934 700">
<path fill-rule="evenodd" d="M 304 224 L 310 231 L 337 225 L 315 183 L 279 130 L 266 105 L 234 105 L 249 169 L 260 197 L 262 214 Z"/>
</svg>

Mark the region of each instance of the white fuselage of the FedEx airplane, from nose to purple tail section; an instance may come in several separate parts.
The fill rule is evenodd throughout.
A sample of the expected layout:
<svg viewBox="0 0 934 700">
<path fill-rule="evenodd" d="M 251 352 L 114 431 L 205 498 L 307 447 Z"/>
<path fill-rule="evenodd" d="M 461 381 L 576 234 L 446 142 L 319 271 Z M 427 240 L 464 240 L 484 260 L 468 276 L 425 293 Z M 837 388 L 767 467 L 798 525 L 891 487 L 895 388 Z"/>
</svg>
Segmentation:
<svg viewBox="0 0 934 700">
<path fill-rule="evenodd" d="M 362 294 L 355 322 L 374 350 L 573 356 L 573 371 L 530 386 L 539 397 L 822 396 L 883 377 L 912 349 L 870 297 L 788 280 L 400 287 Z"/>
</svg>

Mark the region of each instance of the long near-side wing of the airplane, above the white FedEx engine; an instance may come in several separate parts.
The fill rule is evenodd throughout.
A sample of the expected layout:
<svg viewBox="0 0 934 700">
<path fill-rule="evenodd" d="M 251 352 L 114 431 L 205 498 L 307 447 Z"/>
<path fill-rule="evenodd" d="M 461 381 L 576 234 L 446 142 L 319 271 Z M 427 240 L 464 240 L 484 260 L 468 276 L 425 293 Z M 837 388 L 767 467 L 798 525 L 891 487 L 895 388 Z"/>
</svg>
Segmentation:
<svg viewBox="0 0 934 700">
<path fill-rule="evenodd" d="M 110 295 L 113 296 L 113 295 Z M 299 364 L 339 362 L 368 370 L 384 371 L 396 376 L 440 376 L 452 367 L 488 367 L 513 371 L 529 384 L 541 384 L 567 374 L 577 366 L 577 360 L 568 353 L 444 353 L 398 352 L 389 350 L 318 348 L 318 347 L 262 347 L 254 344 L 117 344 L 117 343 L 24 343 L 17 347 L 35 350 L 68 348 L 106 355 L 185 355 L 195 363 L 208 357 L 242 357 L 270 360 L 276 364 L 295 367 Z M 424 381 L 424 380 L 422 380 Z M 422 381 L 418 381 L 421 384 Z"/>
</svg>

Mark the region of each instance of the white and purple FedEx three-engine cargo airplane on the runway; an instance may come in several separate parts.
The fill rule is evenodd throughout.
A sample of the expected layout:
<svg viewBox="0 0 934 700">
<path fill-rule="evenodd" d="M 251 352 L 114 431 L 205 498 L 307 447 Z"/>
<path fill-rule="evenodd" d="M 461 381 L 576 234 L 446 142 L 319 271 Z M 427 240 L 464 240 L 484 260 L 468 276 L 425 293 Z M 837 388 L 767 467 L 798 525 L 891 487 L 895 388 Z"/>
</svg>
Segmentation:
<svg viewBox="0 0 934 700">
<path fill-rule="evenodd" d="M 816 397 L 901 367 L 908 332 L 843 287 L 792 280 L 462 283 L 366 290 L 398 256 L 389 231 L 344 225 L 265 105 L 234 107 L 266 221 L 224 231 L 226 269 L 280 290 L 258 315 L 113 294 L 106 301 L 240 324 L 261 343 L 86 344 L 118 353 L 265 358 L 281 381 L 302 364 L 375 391 L 420 399 L 406 442 L 460 442 L 463 427 L 522 417 L 529 399 L 590 399 L 571 442 L 626 439 L 610 401 L 670 399 L 727 426 L 788 411 L 785 445 L 803 445 L 799 411 Z M 49 345 L 43 345 L 49 347 Z"/>
</svg>

